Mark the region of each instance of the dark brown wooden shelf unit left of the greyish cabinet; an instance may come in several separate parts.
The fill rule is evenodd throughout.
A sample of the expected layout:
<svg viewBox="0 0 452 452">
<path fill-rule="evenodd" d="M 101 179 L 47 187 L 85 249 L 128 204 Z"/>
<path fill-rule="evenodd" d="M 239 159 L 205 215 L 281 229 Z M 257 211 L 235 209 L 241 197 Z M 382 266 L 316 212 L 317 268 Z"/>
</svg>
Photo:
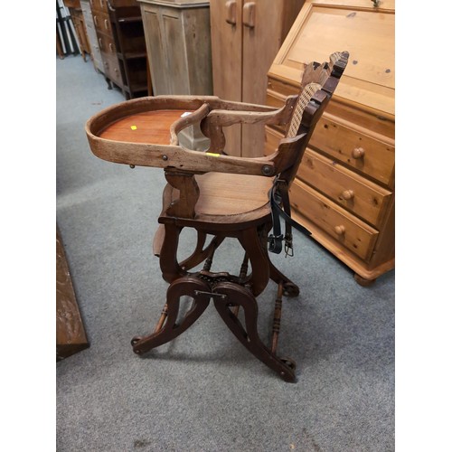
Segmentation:
<svg viewBox="0 0 452 452">
<path fill-rule="evenodd" d="M 126 99 L 147 96 L 146 41 L 135 0 L 91 0 L 91 12 L 108 88 Z"/>
</svg>

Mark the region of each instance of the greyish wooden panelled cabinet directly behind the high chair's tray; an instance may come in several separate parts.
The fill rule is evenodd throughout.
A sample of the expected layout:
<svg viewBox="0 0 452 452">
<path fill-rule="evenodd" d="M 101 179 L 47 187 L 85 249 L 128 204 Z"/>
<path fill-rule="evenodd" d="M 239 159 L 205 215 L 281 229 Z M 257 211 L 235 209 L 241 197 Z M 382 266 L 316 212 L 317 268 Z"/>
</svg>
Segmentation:
<svg viewBox="0 0 452 452">
<path fill-rule="evenodd" d="M 139 3 L 154 95 L 212 95 L 209 2 L 139 0 Z M 209 143 L 199 127 L 184 129 L 180 139 L 191 149 L 203 149 Z"/>
</svg>

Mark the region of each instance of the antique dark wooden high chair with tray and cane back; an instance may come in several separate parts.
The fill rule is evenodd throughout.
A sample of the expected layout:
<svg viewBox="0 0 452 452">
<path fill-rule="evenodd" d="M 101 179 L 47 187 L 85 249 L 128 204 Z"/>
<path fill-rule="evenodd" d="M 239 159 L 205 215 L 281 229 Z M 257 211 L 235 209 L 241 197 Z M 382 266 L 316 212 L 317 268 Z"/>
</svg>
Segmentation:
<svg viewBox="0 0 452 452">
<path fill-rule="evenodd" d="M 283 237 L 276 212 L 281 206 L 290 211 L 288 187 L 347 61 L 347 52 L 337 52 L 329 63 L 307 66 L 299 93 L 289 96 L 281 108 L 217 97 L 157 96 L 123 102 L 89 119 L 86 131 L 95 155 L 121 164 L 164 168 L 168 182 L 154 252 L 170 286 L 155 331 L 132 339 L 135 353 L 146 353 L 184 333 L 213 300 L 222 320 L 250 353 L 285 381 L 296 379 L 295 363 L 279 357 L 277 346 L 282 297 L 295 297 L 299 289 L 272 264 L 267 247 L 279 252 L 284 239 L 286 250 L 291 250 L 291 224 L 286 223 Z M 179 132 L 193 124 L 210 138 L 207 152 L 179 144 Z M 272 155 L 227 155 L 222 130 L 234 124 L 287 125 L 287 134 Z M 180 260 L 178 241 L 184 228 L 197 231 L 197 241 L 193 254 Z M 208 235 L 212 240 L 206 245 Z M 238 240 L 244 251 L 235 275 L 211 271 L 213 255 L 226 238 Z M 193 270 L 202 262 L 201 269 Z M 278 296 L 268 347 L 260 340 L 257 325 L 258 297 L 269 279 L 278 284 Z M 179 319 L 181 297 L 193 303 Z"/>
</svg>

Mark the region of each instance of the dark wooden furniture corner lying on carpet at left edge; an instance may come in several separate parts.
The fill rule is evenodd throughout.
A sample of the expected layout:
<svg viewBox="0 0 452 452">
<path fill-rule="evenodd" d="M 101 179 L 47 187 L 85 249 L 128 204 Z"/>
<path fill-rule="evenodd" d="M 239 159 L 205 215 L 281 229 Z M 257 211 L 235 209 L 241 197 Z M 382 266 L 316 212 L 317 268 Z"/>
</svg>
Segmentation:
<svg viewBox="0 0 452 452">
<path fill-rule="evenodd" d="M 89 347 L 79 305 L 72 286 L 71 272 L 64 253 L 61 233 L 56 230 L 56 359 Z"/>
</svg>

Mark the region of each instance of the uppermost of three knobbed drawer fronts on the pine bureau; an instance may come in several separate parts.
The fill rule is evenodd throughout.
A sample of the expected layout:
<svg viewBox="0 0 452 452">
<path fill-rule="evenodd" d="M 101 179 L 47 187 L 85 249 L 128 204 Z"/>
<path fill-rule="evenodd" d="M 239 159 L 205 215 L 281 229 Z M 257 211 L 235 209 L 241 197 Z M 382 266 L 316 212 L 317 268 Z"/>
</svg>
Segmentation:
<svg viewBox="0 0 452 452">
<path fill-rule="evenodd" d="M 382 184 L 394 184 L 394 146 L 344 127 L 326 113 L 319 119 L 309 144 Z"/>
</svg>

